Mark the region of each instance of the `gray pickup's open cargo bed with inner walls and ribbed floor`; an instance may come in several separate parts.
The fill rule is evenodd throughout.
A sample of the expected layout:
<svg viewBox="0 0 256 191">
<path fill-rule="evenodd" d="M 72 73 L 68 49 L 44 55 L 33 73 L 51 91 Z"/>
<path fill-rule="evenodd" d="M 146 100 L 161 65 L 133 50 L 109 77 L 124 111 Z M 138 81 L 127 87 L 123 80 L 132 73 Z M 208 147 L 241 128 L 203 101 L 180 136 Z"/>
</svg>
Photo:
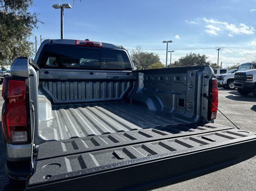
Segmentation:
<svg viewBox="0 0 256 191">
<path fill-rule="evenodd" d="M 35 141 L 40 144 L 198 122 L 201 112 L 207 118 L 202 105 L 208 106 L 201 94 L 208 93 L 202 81 L 210 72 L 201 66 L 93 71 L 93 75 L 86 70 L 41 69 L 35 135 L 44 140 L 36 137 Z"/>
</svg>

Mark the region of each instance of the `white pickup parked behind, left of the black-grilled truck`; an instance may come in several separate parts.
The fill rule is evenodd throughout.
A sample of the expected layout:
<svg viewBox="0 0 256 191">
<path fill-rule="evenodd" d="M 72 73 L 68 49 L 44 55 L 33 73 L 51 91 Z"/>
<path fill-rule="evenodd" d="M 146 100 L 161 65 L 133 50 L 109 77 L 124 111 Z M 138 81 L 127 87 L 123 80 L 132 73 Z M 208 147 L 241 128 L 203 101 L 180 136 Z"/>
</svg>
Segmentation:
<svg viewBox="0 0 256 191">
<path fill-rule="evenodd" d="M 218 75 L 217 76 L 218 86 L 227 88 L 230 90 L 236 89 L 234 86 L 234 73 L 237 70 L 238 69 L 232 69 L 232 70 L 228 71 L 227 73 Z"/>
</svg>

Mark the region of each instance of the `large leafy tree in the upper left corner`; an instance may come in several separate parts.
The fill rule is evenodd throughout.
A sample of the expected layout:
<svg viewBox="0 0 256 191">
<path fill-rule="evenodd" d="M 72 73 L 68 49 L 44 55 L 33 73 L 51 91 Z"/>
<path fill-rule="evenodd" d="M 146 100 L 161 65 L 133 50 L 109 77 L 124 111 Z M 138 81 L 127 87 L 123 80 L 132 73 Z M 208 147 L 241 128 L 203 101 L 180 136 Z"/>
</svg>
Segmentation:
<svg viewBox="0 0 256 191">
<path fill-rule="evenodd" d="M 30 13 L 32 0 L 0 0 L 0 65 L 12 63 L 16 57 L 33 55 L 29 41 L 38 28 L 38 14 Z"/>
</svg>

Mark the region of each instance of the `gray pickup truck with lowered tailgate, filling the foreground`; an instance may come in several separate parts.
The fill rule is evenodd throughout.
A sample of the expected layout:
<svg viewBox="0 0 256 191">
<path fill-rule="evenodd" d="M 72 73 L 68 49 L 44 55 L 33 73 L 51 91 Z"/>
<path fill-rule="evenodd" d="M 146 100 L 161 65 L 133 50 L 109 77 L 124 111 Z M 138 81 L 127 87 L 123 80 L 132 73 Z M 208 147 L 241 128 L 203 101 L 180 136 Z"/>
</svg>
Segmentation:
<svg viewBox="0 0 256 191">
<path fill-rule="evenodd" d="M 213 75 L 136 71 L 122 46 L 44 40 L 4 80 L 6 172 L 26 190 L 150 190 L 249 159 L 256 133 L 210 123 Z"/>
</svg>

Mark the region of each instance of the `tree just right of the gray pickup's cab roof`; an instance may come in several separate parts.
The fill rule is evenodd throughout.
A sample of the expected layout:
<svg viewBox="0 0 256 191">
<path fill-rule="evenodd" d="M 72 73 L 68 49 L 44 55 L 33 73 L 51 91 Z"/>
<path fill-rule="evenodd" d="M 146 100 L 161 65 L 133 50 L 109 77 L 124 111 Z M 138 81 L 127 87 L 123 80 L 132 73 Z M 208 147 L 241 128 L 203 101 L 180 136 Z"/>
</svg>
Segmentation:
<svg viewBox="0 0 256 191">
<path fill-rule="evenodd" d="M 148 53 L 142 51 L 142 47 L 140 45 L 136 46 L 135 50 L 132 50 L 131 57 L 132 62 L 134 63 L 134 67 L 137 70 L 148 69 L 148 67 L 153 63 L 160 62 L 159 55 L 152 52 Z"/>
</svg>

